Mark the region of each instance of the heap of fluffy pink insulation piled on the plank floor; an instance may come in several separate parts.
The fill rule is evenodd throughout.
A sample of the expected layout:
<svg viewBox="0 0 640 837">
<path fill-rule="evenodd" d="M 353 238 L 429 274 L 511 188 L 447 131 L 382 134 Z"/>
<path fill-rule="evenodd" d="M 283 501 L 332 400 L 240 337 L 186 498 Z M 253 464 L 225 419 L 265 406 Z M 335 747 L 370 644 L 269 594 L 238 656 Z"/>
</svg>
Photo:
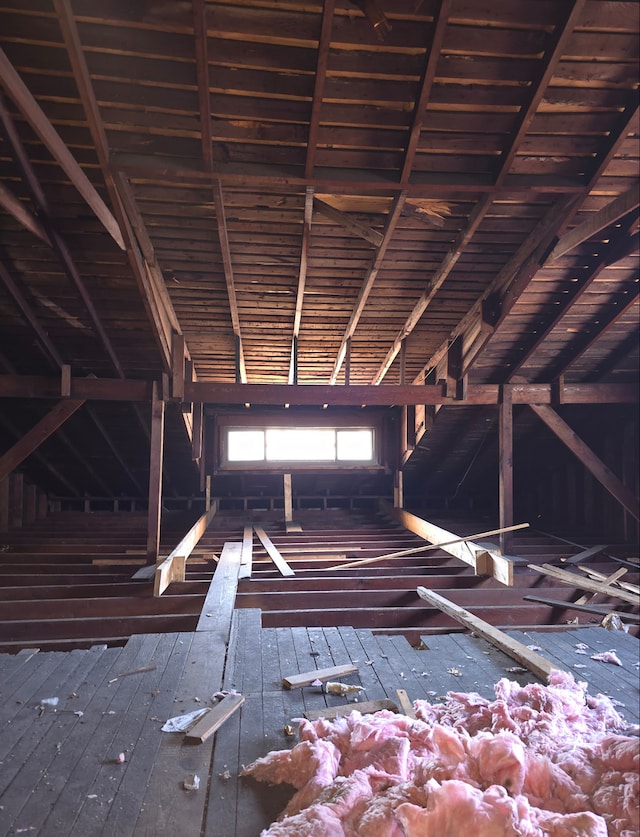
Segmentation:
<svg viewBox="0 0 640 837">
<path fill-rule="evenodd" d="M 417 700 L 417 719 L 354 710 L 243 776 L 296 792 L 261 837 L 637 837 L 640 742 L 609 698 L 554 671 L 496 699 Z"/>
</svg>

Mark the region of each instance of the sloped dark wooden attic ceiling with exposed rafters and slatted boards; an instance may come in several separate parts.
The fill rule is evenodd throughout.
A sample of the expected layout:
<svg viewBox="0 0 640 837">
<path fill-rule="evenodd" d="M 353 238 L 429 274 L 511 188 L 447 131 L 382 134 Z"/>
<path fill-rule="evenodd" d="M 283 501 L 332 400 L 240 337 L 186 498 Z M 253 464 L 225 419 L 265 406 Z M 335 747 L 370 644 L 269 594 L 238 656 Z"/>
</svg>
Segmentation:
<svg viewBox="0 0 640 837">
<path fill-rule="evenodd" d="M 639 35 L 611 0 L 0 0 L 1 371 L 637 381 Z M 108 458 L 135 410 L 96 411 Z"/>
</svg>

